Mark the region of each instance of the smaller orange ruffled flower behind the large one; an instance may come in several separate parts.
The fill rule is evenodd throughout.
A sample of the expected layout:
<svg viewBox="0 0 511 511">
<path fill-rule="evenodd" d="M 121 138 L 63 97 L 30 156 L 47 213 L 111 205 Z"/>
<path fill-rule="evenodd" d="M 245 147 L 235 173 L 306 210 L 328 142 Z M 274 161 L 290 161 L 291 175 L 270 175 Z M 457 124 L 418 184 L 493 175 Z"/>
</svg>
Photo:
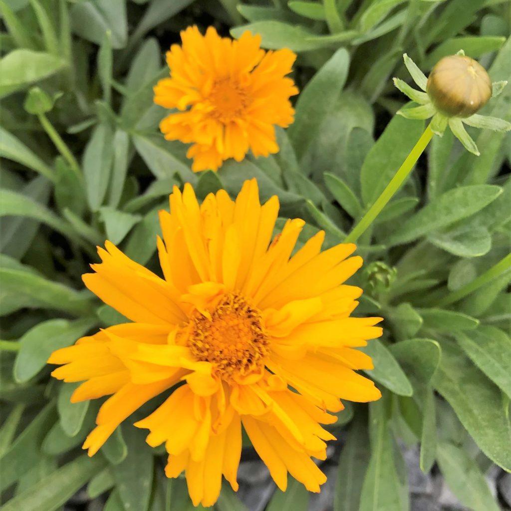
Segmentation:
<svg viewBox="0 0 511 511">
<path fill-rule="evenodd" d="M 228 158 L 241 161 L 276 153 L 274 126 L 287 127 L 298 94 L 291 78 L 291 50 L 265 52 L 261 36 L 244 32 L 238 40 L 220 37 L 210 27 L 181 32 L 182 45 L 167 53 L 170 78 L 154 87 L 154 102 L 175 108 L 160 123 L 167 140 L 190 143 L 192 170 L 217 170 Z"/>
</svg>

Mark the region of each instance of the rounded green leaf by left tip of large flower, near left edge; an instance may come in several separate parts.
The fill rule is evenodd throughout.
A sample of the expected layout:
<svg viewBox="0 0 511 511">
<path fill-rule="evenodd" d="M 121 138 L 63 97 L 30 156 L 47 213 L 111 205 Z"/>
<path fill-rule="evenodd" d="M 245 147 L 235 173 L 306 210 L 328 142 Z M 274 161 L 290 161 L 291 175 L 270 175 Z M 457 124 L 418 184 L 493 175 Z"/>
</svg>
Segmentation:
<svg viewBox="0 0 511 511">
<path fill-rule="evenodd" d="M 14 363 L 14 380 L 25 383 L 46 365 L 50 355 L 71 346 L 94 326 L 94 319 L 49 319 L 37 324 L 20 339 L 20 349 Z"/>
</svg>

